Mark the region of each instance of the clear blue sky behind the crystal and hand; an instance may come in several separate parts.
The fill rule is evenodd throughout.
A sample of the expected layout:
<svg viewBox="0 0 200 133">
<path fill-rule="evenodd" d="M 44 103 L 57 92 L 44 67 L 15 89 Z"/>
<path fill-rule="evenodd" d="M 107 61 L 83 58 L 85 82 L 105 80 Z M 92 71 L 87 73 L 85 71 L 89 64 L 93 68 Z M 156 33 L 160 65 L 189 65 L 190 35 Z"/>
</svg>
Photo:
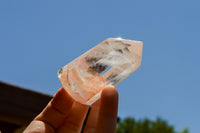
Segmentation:
<svg viewBox="0 0 200 133">
<path fill-rule="evenodd" d="M 54 94 L 57 70 L 109 37 L 144 42 L 141 67 L 122 81 L 119 116 L 160 116 L 200 132 L 200 2 L 0 1 L 0 80 Z"/>
</svg>

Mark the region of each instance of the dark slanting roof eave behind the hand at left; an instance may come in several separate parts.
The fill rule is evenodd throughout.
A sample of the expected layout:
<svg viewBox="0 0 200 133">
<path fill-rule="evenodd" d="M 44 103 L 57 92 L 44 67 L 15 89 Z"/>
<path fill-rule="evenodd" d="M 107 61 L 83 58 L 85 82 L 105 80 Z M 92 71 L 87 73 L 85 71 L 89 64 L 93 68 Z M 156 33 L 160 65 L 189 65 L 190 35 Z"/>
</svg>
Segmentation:
<svg viewBox="0 0 200 133">
<path fill-rule="evenodd" d="M 0 81 L 0 121 L 28 124 L 52 96 Z"/>
</svg>

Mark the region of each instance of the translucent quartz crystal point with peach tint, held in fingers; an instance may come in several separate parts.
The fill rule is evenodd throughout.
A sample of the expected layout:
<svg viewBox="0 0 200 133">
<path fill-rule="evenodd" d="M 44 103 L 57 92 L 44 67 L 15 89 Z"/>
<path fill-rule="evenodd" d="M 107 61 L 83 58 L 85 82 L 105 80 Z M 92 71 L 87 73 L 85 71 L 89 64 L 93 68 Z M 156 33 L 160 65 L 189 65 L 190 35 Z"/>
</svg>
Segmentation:
<svg viewBox="0 0 200 133">
<path fill-rule="evenodd" d="M 117 85 L 141 64 L 143 43 L 108 38 L 58 71 L 64 89 L 74 100 L 91 105 L 101 90 Z"/>
</svg>

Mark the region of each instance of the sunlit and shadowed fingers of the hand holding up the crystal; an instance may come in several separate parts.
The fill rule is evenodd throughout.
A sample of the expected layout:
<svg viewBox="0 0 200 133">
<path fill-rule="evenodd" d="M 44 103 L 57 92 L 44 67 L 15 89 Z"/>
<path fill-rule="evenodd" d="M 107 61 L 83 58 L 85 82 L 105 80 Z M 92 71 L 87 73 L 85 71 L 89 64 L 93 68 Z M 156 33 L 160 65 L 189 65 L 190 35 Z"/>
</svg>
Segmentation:
<svg viewBox="0 0 200 133">
<path fill-rule="evenodd" d="M 88 109 L 61 88 L 24 133 L 80 133 Z M 117 89 L 108 86 L 92 105 L 84 133 L 116 133 L 117 111 Z"/>
</svg>

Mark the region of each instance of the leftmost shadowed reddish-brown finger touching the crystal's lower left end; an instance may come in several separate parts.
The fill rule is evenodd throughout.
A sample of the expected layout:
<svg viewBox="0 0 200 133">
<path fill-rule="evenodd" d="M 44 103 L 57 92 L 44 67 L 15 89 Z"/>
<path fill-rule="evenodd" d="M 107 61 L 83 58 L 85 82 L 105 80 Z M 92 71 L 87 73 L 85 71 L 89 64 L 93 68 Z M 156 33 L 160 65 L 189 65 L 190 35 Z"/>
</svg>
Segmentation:
<svg viewBox="0 0 200 133">
<path fill-rule="evenodd" d="M 35 120 L 42 121 L 56 130 L 69 115 L 73 102 L 71 96 L 61 88 Z"/>
</svg>

